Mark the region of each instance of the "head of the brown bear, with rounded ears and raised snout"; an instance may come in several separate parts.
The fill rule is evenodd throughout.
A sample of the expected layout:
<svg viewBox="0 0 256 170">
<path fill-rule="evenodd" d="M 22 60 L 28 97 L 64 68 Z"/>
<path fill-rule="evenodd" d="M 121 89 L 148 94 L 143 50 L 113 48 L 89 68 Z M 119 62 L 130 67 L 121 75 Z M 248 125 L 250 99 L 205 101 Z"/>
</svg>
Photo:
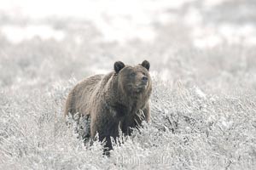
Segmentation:
<svg viewBox="0 0 256 170">
<path fill-rule="evenodd" d="M 117 61 L 113 67 L 118 77 L 118 86 L 125 94 L 147 93 L 151 90 L 151 77 L 148 73 L 150 64 L 147 60 L 136 66 Z"/>
</svg>

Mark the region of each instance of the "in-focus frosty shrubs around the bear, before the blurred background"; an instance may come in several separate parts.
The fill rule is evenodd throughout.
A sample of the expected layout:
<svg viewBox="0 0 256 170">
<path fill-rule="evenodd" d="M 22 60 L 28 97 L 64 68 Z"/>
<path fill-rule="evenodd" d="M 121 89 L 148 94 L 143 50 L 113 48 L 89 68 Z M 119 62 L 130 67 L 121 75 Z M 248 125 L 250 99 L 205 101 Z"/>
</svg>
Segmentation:
<svg viewBox="0 0 256 170">
<path fill-rule="evenodd" d="M 85 144 L 67 126 L 63 105 L 76 81 L 42 91 L 1 94 L 0 168 L 131 169 L 253 168 L 255 96 L 206 94 L 182 83 L 169 89 L 154 77 L 151 122 L 113 144 Z"/>
</svg>

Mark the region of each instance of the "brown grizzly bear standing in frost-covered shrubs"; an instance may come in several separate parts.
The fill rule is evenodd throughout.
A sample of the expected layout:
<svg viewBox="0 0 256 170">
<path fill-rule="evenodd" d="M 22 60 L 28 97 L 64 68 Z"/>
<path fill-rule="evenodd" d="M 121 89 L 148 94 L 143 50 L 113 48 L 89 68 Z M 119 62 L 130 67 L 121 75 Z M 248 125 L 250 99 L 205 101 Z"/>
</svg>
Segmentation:
<svg viewBox="0 0 256 170">
<path fill-rule="evenodd" d="M 149 67 L 147 60 L 136 66 L 117 61 L 107 75 L 86 78 L 68 94 L 65 115 L 79 112 L 90 116 L 90 138 L 98 133 L 99 140 L 106 139 L 105 146 L 111 150 L 110 137 L 116 139 L 119 129 L 130 135 L 133 127 L 149 121 Z"/>
</svg>

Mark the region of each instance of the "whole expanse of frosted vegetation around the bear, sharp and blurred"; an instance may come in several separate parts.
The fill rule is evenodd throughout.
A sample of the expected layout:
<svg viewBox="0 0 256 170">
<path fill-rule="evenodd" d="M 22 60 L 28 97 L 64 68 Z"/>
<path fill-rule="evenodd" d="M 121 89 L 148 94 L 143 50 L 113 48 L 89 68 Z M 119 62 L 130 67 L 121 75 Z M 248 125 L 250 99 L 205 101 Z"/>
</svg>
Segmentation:
<svg viewBox="0 0 256 170">
<path fill-rule="evenodd" d="M 201 26 L 216 30 L 254 26 L 253 1 L 228 2 L 207 8 L 195 1 L 181 11 L 196 9 Z M 76 18 L 41 20 L 65 32 L 62 39 L 14 43 L 0 29 L 0 169 L 255 169 L 256 48 L 246 37 L 254 31 L 234 33 L 234 42 L 216 31 L 222 41 L 202 47 L 196 26 L 172 10 L 179 20 L 151 23 L 150 41 L 106 41 L 93 22 Z M 2 25 L 34 24 L 0 16 Z M 84 145 L 72 120 L 67 127 L 67 94 L 84 77 L 112 71 L 116 60 L 143 59 L 153 77 L 151 122 L 102 156 L 102 144 Z"/>
</svg>

